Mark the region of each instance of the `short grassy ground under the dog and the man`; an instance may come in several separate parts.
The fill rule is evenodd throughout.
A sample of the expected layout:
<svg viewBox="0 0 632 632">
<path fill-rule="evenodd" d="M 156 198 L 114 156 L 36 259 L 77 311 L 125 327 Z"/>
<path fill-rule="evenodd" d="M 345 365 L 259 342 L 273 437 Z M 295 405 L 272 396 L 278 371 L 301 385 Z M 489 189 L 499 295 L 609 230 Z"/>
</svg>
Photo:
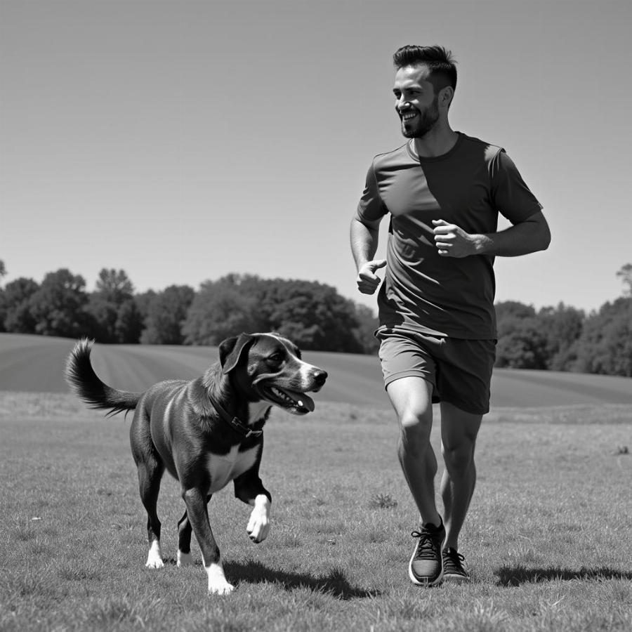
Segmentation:
<svg viewBox="0 0 632 632">
<path fill-rule="evenodd" d="M 389 409 L 274 414 L 262 465 L 268 540 L 249 541 L 249 508 L 230 487 L 211 501 L 237 584 L 228 597 L 206 595 L 200 563 L 176 567 L 183 504 L 168 478 L 167 564 L 145 569 L 128 428 L 69 395 L 0 393 L 0 630 L 632 628 L 632 407 L 489 414 L 461 539 L 473 581 L 430 590 L 407 577 L 416 518 Z"/>
</svg>

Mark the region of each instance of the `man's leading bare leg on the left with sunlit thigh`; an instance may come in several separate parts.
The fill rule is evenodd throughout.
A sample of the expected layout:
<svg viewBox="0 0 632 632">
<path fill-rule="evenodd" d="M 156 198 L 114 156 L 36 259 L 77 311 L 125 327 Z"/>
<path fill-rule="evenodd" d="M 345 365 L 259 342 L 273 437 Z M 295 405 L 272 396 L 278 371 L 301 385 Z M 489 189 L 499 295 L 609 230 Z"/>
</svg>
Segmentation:
<svg viewBox="0 0 632 632">
<path fill-rule="evenodd" d="M 440 525 L 435 503 L 437 459 L 430 445 L 433 385 L 421 377 L 402 377 L 386 387 L 400 421 L 397 454 L 423 524 Z"/>
</svg>

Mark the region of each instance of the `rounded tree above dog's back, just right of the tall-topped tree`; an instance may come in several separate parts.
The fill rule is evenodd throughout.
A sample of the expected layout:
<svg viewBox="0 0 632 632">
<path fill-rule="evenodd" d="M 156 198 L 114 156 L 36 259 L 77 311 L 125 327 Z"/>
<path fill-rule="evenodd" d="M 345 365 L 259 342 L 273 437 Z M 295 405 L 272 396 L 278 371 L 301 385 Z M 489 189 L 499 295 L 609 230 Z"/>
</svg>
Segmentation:
<svg viewBox="0 0 632 632">
<path fill-rule="evenodd" d="M 181 345 L 182 327 L 195 291 L 187 285 L 170 285 L 150 302 L 140 342 L 149 345 Z"/>
</svg>

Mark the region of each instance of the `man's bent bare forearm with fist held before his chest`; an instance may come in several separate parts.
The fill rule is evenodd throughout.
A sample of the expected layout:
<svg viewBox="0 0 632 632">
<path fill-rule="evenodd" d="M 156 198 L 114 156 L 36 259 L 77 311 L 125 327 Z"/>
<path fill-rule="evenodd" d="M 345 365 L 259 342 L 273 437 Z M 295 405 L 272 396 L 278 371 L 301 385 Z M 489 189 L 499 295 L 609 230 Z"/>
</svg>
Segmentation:
<svg viewBox="0 0 632 632">
<path fill-rule="evenodd" d="M 443 257 L 489 256 L 518 257 L 539 250 L 546 250 L 551 243 L 551 231 L 539 211 L 518 224 L 485 235 L 465 232 L 455 224 L 433 220 L 435 246 Z"/>
</svg>

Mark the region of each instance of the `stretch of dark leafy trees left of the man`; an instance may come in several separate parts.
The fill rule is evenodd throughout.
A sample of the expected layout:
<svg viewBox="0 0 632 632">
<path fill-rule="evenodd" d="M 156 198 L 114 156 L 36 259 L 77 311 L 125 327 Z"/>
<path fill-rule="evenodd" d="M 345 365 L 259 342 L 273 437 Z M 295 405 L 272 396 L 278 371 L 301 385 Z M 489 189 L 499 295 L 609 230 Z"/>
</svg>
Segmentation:
<svg viewBox="0 0 632 632">
<path fill-rule="evenodd" d="M 20 277 L 0 288 L 0 331 L 100 343 L 217 345 L 242 331 L 277 331 L 303 349 L 373 353 L 376 327 L 365 305 L 298 279 L 230 274 L 199 291 L 171 285 L 138 294 L 124 270 L 103 268 L 88 292 L 84 277 L 62 268 L 41 284 Z"/>
</svg>

